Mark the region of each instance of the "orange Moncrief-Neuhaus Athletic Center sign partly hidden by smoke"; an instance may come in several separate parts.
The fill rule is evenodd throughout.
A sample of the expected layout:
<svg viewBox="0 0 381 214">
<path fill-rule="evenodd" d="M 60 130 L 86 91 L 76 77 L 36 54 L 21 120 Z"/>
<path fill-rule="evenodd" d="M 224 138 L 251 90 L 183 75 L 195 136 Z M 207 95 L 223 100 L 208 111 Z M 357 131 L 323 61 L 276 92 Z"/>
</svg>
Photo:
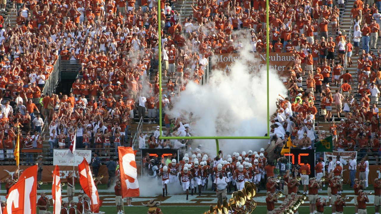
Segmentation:
<svg viewBox="0 0 381 214">
<path fill-rule="evenodd" d="M 266 68 L 266 53 L 250 53 L 255 60 L 247 62 L 247 70 L 256 71 Z M 239 53 L 215 54 L 211 57 L 212 69 L 225 70 L 231 72 L 231 67 L 235 61 L 241 60 Z M 269 53 L 269 67 L 276 70 L 279 75 L 287 75 L 287 67 L 294 67 L 295 56 L 293 53 Z"/>
</svg>

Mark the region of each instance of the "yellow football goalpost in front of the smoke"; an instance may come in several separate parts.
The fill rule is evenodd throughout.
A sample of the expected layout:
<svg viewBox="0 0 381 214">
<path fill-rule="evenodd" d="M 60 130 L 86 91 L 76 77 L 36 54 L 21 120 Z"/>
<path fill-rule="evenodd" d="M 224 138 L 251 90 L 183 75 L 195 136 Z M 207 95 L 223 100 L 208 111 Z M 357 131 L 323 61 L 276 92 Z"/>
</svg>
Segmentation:
<svg viewBox="0 0 381 214">
<path fill-rule="evenodd" d="M 161 43 L 161 6 L 158 0 L 158 54 L 159 54 L 159 131 L 162 133 L 162 43 Z M 269 1 L 266 1 L 266 64 L 267 64 L 267 136 L 193 136 L 193 137 L 161 137 L 160 139 L 215 139 L 217 155 L 219 151 L 218 139 L 270 139 L 270 104 L 269 104 Z"/>
</svg>

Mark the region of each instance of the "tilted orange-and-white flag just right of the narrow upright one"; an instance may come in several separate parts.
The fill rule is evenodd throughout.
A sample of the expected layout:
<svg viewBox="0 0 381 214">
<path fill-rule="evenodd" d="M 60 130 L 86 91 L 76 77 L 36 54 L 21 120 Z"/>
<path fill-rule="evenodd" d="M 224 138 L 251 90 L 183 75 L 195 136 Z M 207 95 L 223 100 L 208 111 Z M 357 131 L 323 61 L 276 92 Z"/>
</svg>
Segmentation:
<svg viewBox="0 0 381 214">
<path fill-rule="evenodd" d="M 91 211 L 98 213 L 100 207 L 98 190 L 95 187 L 93 176 L 85 157 L 83 157 L 82 163 L 78 165 L 78 174 L 83 191 L 90 197 Z"/>
</svg>

